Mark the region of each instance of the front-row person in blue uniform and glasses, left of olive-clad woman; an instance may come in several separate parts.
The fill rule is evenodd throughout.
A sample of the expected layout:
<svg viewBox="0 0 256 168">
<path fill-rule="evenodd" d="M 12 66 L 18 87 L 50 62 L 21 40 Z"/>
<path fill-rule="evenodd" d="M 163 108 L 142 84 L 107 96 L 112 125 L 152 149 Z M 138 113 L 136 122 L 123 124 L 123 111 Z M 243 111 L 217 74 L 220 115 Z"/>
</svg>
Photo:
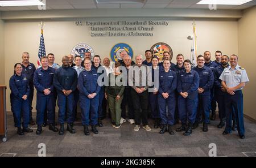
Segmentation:
<svg viewBox="0 0 256 168">
<path fill-rule="evenodd" d="M 89 124 L 92 124 L 92 132 L 98 133 L 96 125 L 98 124 L 99 92 L 101 87 L 97 83 L 98 73 L 92 68 L 90 59 L 86 58 L 84 60 L 84 67 L 85 70 L 79 75 L 77 87 L 80 92 L 82 126 L 84 126 L 84 134 L 89 135 Z"/>
</svg>

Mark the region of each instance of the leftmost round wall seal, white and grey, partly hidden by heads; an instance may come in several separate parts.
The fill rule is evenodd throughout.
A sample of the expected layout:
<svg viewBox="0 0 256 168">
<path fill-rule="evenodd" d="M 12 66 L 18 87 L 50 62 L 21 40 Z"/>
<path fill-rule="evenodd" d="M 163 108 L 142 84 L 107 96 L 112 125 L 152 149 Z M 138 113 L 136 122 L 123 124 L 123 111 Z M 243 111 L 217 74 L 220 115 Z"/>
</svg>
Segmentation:
<svg viewBox="0 0 256 168">
<path fill-rule="evenodd" d="M 85 43 L 80 43 L 77 44 L 71 51 L 71 54 L 76 57 L 77 55 L 80 55 L 80 57 L 82 58 L 82 60 L 84 60 L 84 54 L 85 52 L 89 51 L 90 54 L 92 55 L 92 57 L 90 58 L 91 60 L 93 60 L 93 56 L 94 56 L 94 51 L 92 49 L 91 46 L 89 46 L 88 44 Z"/>
</svg>

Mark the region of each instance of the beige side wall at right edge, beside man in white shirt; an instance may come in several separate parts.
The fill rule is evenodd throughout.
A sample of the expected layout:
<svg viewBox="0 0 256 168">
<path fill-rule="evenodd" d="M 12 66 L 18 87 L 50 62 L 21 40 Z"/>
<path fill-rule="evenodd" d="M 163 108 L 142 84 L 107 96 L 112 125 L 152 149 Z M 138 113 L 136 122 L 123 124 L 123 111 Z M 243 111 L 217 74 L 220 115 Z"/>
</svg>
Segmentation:
<svg viewBox="0 0 256 168">
<path fill-rule="evenodd" d="M 250 82 L 243 89 L 244 113 L 256 120 L 255 113 L 255 62 L 256 62 L 256 7 L 243 12 L 243 18 L 238 21 L 239 59 L 240 66 L 246 69 Z"/>
</svg>

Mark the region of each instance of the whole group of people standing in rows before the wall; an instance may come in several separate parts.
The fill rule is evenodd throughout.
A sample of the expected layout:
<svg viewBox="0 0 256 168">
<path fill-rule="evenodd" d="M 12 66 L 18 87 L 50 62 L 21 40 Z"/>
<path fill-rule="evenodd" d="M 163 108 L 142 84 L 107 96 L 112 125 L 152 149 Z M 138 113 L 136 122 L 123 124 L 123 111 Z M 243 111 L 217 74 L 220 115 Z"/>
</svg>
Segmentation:
<svg viewBox="0 0 256 168">
<path fill-rule="evenodd" d="M 64 56 L 59 66 L 50 53 L 40 58 L 42 66 L 36 69 L 24 52 L 22 63 L 15 64 L 10 78 L 11 110 L 18 134 L 32 132 L 28 123 L 33 124 L 35 87 L 38 135 L 46 124 L 49 130 L 63 135 L 65 122 L 67 131 L 76 133 L 73 122 L 77 118 L 77 105 L 81 109 L 84 134 L 89 135 L 89 126 L 93 133 L 98 133 L 97 126 L 103 126 L 101 120 L 108 105 L 114 128 L 121 127 L 128 114 L 128 121 L 135 124 L 134 131 L 141 127 L 151 131 L 150 111 L 154 128 L 160 127 L 160 134 L 182 131 L 188 136 L 200 123 L 203 131 L 208 131 L 210 119 L 216 118 L 217 102 L 220 118 L 217 127 L 226 126 L 224 135 L 237 130 L 241 139 L 245 138 L 242 89 L 249 79 L 245 69 L 238 66 L 237 55 L 228 57 L 216 51 L 216 60 L 211 61 L 210 52 L 205 51 L 204 55 L 198 55 L 196 67 L 189 59 L 184 60 L 183 54 L 176 56 L 176 64 L 172 63 L 168 51 L 164 51 L 162 62 L 150 50 L 145 51 L 146 60 L 139 54 L 134 62 L 125 50 L 120 56 L 122 59 L 112 66 L 105 57 L 101 66 L 99 55 L 94 55 L 91 61 L 91 54 L 86 52 L 84 60 L 79 55 Z M 55 127 L 56 100 L 59 129 Z M 179 120 L 181 126 L 174 130 Z"/>
</svg>

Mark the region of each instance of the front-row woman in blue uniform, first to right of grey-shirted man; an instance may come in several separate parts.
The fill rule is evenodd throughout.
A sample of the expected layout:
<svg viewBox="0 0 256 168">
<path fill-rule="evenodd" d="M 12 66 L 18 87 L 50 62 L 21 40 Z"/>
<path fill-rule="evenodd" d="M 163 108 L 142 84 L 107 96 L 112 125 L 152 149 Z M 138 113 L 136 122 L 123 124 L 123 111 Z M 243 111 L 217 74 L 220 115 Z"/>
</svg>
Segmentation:
<svg viewBox="0 0 256 168">
<path fill-rule="evenodd" d="M 172 126 L 174 125 L 174 113 L 176 105 L 175 89 L 177 88 L 177 76 L 176 72 L 172 71 L 170 67 L 171 62 L 170 60 L 166 59 L 163 61 L 163 68 L 160 69 L 159 72 L 158 104 L 160 118 L 163 124 L 163 128 L 159 133 L 163 134 L 164 132 L 168 131 L 171 135 L 174 135 Z M 168 109 L 167 111 L 166 106 Z"/>
</svg>

